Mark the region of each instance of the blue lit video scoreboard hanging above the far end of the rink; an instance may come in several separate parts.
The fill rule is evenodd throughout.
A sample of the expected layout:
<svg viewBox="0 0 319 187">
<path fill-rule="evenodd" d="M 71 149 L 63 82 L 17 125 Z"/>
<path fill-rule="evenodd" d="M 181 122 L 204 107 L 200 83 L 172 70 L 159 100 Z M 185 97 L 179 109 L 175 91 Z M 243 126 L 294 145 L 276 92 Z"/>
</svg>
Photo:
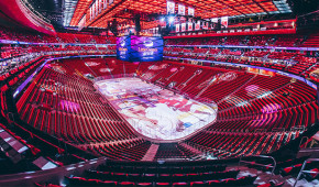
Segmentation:
<svg viewBox="0 0 319 187">
<path fill-rule="evenodd" d="M 117 38 L 117 57 L 128 62 L 163 61 L 162 37 L 122 36 Z"/>
</svg>

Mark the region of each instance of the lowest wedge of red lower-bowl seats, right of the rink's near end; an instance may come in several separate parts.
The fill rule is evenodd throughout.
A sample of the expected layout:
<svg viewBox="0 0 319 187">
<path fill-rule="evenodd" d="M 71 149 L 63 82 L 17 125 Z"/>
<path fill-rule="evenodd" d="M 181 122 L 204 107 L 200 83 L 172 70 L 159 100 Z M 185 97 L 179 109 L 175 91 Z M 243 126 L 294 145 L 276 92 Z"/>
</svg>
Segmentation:
<svg viewBox="0 0 319 187">
<path fill-rule="evenodd" d="M 215 132 L 205 131 L 186 141 L 189 145 L 213 153 L 216 157 L 267 154 L 298 136 L 298 132 Z"/>
</svg>

